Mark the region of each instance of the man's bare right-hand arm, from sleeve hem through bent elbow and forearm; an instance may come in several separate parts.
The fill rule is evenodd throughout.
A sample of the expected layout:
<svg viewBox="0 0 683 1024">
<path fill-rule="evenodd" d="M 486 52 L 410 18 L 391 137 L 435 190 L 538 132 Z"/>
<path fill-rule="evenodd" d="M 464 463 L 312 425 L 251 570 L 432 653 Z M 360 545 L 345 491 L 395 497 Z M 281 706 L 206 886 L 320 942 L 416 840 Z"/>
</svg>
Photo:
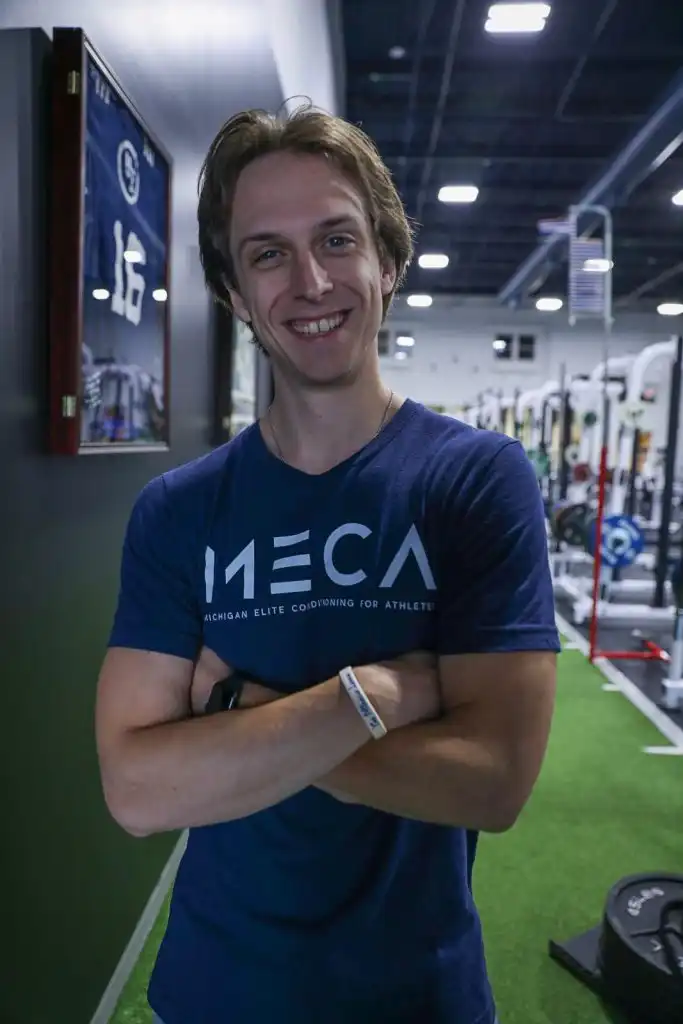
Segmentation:
<svg viewBox="0 0 683 1024">
<path fill-rule="evenodd" d="M 511 827 L 545 757 L 556 654 L 441 657 L 442 716 L 366 744 L 321 779 L 338 799 L 437 824 Z"/>
</svg>

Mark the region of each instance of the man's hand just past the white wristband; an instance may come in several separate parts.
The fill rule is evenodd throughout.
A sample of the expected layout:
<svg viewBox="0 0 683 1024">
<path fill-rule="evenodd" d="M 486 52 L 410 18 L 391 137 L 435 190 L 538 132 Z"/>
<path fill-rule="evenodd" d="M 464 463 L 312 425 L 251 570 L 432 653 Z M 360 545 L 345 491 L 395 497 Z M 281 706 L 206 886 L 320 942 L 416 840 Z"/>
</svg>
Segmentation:
<svg viewBox="0 0 683 1024">
<path fill-rule="evenodd" d="M 413 651 L 354 669 L 371 703 L 390 731 L 431 721 L 441 713 L 436 655 Z"/>
</svg>

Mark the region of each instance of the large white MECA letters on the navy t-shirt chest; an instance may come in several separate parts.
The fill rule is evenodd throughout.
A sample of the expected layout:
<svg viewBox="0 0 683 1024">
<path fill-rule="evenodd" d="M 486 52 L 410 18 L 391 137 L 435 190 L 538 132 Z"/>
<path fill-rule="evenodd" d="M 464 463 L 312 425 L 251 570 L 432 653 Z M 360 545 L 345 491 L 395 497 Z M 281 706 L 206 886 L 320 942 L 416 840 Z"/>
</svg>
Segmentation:
<svg viewBox="0 0 683 1024">
<path fill-rule="evenodd" d="M 335 548 L 343 537 L 359 537 L 367 540 L 372 534 L 369 526 L 360 522 L 346 522 L 328 537 L 323 548 L 323 565 L 328 579 L 337 587 L 357 587 L 368 579 L 368 573 L 358 568 L 355 572 L 341 572 L 334 562 Z M 294 534 L 289 537 L 273 537 L 272 546 L 275 550 L 286 548 L 296 548 L 310 540 L 310 530 L 303 530 L 301 534 Z M 401 542 L 395 555 L 382 577 L 379 587 L 390 590 L 396 582 L 399 572 L 413 557 L 417 563 L 420 574 L 427 590 L 436 590 L 436 582 L 429 565 L 427 552 L 418 534 L 417 527 L 412 525 L 405 538 Z M 275 558 L 272 562 L 271 570 L 280 573 L 286 569 L 306 568 L 311 565 L 311 556 L 308 552 L 301 554 L 287 555 L 284 558 Z M 245 601 L 253 601 L 256 592 L 256 541 L 252 540 L 247 544 L 239 555 L 237 555 L 225 568 L 225 583 L 228 584 L 239 572 L 243 573 L 243 598 Z M 216 583 L 216 553 L 213 548 L 206 549 L 204 564 L 204 580 L 206 585 L 206 602 L 213 601 L 214 588 Z M 311 590 L 311 580 L 270 580 L 269 589 L 271 594 L 303 594 Z"/>
</svg>

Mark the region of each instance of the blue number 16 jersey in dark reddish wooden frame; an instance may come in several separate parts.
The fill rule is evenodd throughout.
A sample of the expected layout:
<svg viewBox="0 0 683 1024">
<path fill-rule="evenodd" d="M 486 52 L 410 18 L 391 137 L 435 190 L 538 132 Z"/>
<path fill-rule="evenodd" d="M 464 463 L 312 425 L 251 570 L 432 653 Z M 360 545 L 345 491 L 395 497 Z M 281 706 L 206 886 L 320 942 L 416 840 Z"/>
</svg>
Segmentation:
<svg viewBox="0 0 683 1024">
<path fill-rule="evenodd" d="M 169 155 L 80 29 L 53 33 L 54 454 L 169 447 Z"/>
</svg>

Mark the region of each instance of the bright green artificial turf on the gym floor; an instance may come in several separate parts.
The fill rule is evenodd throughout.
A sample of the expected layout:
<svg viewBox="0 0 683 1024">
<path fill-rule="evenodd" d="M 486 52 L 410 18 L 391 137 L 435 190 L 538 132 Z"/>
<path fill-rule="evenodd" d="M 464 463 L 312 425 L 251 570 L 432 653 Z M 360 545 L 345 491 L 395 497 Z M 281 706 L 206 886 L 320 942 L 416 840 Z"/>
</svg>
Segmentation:
<svg viewBox="0 0 683 1024">
<path fill-rule="evenodd" d="M 606 637 L 605 639 L 609 639 Z M 548 757 L 524 814 L 483 836 L 474 891 L 501 1024 L 606 1024 L 613 1018 L 548 955 L 598 925 L 627 874 L 680 871 L 681 761 L 643 753 L 661 736 L 565 643 Z M 623 666 L 620 666 L 621 668 Z M 110 1024 L 147 1024 L 160 914 Z M 324 1024 L 324 1022 L 322 1022 Z"/>
</svg>

